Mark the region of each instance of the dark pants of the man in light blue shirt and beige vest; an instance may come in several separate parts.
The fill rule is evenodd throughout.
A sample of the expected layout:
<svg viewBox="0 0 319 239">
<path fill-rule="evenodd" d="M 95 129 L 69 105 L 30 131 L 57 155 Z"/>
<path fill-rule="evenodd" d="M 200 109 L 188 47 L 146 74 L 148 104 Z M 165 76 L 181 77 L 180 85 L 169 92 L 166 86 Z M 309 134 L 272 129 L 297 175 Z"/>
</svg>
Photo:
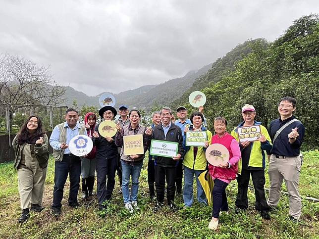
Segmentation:
<svg viewBox="0 0 319 239">
<path fill-rule="evenodd" d="M 70 192 L 68 203 L 77 202 L 80 188 L 81 159 L 73 154 L 64 154 L 62 161 L 55 161 L 54 189 L 52 209 L 61 208 L 64 185 L 67 175 L 70 175 Z"/>
</svg>

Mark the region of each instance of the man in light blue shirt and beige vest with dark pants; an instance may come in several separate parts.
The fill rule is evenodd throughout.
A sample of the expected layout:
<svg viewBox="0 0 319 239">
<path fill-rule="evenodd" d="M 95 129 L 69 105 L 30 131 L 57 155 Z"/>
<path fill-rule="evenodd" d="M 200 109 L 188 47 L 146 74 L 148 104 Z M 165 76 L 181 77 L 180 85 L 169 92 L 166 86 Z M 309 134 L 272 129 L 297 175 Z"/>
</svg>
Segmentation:
<svg viewBox="0 0 319 239">
<path fill-rule="evenodd" d="M 70 192 L 68 205 L 78 207 L 78 191 L 80 188 L 81 158 L 71 153 L 69 143 L 77 135 L 86 135 L 86 128 L 78 123 L 79 114 L 76 109 L 66 110 L 65 123 L 56 125 L 50 137 L 50 145 L 53 148 L 54 189 L 52 213 L 55 217 L 61 214 L 61 201 L 63 198 L 64 185 L 69 174 Z"/>
</svg>

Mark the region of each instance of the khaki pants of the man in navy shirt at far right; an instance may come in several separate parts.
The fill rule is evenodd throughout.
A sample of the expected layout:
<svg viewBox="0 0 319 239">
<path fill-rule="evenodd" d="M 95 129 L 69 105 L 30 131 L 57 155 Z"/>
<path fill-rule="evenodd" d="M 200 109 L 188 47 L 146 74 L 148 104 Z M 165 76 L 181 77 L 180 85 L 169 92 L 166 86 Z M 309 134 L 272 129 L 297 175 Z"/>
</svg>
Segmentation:
<svg viewBox="0 0 319 239">
<path fill-rule="evenodd" d="M 280 199 L 282 181 L 285 180 L 289 195 L 289 214 L 296 219 L 301 215 L 301 197 L 299 194 L 299 176 L 301 169 L 300 156 L 276 158 L 271 154 L 269 161 L 269 206 L 276 206 Z"/>
</svg>

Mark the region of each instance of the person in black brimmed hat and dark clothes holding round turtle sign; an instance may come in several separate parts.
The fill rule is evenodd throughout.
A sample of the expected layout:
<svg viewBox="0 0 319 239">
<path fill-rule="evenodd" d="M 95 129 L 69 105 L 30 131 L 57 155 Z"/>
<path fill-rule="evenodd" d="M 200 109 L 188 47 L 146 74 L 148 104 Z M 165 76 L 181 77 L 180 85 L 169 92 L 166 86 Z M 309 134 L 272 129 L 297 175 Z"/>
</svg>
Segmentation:
<svg viewBox="0 0 319 239">
<path fill-rule="evenodd" d="M 104 106 L 99 110 L 99 115 L 104 120 L 113 120 L 116 109 L 112 106 Z M 96 145 L 96 168 L 97 168 L 97 196 L 99 209 L 106 208 L 104 202 L 111 198 L 115 185 L 115 169 L 117 165 L 117 146 L 115 136 L 103 137 L 99 135 L 99 125 L 93 133 L 93 144 Z M 107 177 L 107 184 L 106 184 Z"/>
</svg>

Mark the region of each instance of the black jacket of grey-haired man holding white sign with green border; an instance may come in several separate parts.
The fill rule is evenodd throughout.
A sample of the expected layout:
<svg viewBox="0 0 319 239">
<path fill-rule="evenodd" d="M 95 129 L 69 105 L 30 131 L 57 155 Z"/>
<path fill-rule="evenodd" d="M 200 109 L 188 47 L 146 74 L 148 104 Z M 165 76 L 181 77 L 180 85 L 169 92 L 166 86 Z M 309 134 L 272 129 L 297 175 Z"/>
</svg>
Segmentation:
<svg viewBox="0 0 319 239">
<path fill-rule="evenodd" d="M 181 158 L 184 156 L 183 135 L 182 135 L 182 130 L 179 126 L 172 123 L 165 137 L 163 127 L 161 126 L 161 124 L 159 124 L 153 129 L 152 140 L 177 142 L 178 143 L 177 153 L 181 155 Z M 158 165 L 161 167 L 176 167 L 178 163 L 181 163 L 179 161 L 172 159 L 171 157 L 154 156 L 154 158 L 155 158 L 155 165 Z"/>
</svg>

